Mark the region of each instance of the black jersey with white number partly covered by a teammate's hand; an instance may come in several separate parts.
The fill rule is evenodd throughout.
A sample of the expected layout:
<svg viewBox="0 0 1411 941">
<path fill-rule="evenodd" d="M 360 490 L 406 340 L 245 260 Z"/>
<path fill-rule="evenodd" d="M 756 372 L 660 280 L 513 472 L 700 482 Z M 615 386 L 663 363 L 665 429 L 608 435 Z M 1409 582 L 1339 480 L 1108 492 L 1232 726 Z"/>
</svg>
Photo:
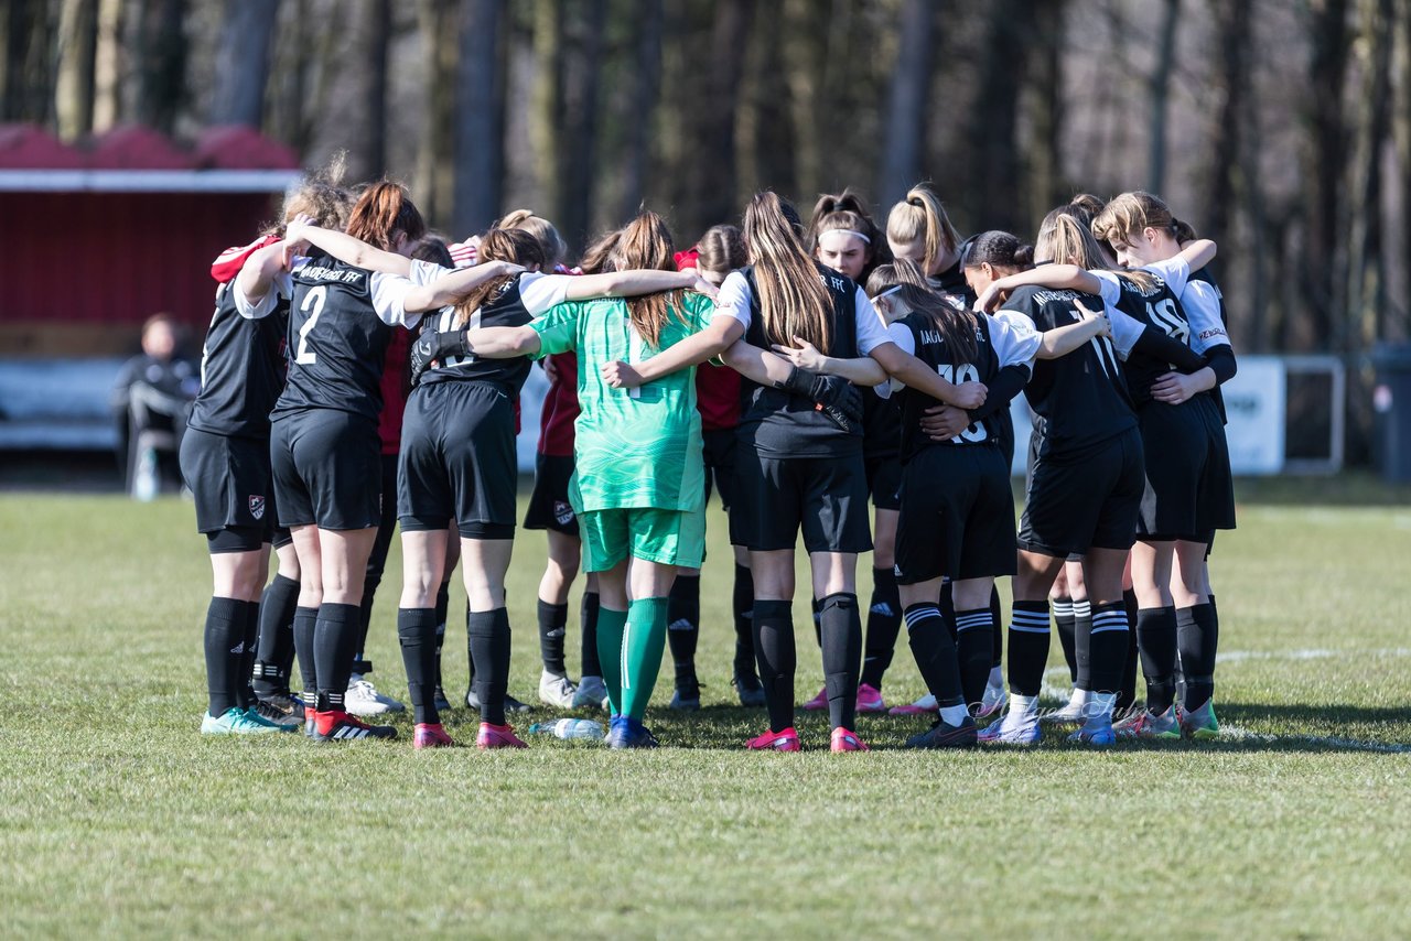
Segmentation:
<svg viewBox="0 0 1411 941">
<path fill-rule="evenodd" d="M 1000 354 L 995 348 L 995 337 L 992 334 L 989 317 L 983 315 L 976 316 L 976 356 L 969 363 L 962 363 L 959 365 L 952 363 L 954 357 L 945 346 L 945 339 L 941 336 L 941 332 L 935 329 L 935 320 L 930 315 L 913 312 L 896 323 L 912 332 L 912 341 L 914 344 L 913 356 L 935 370 L 948 382 L 954 382 L 957 385 L 961 382 L 983 382 L 985 385 L 991 385 L 995 381 L 995 377 L 999 375 Z M 940 399 L 934 399 L 926 392 L 913 388 L 903 388 L 892 398 L 897 401 L 902 411 L 903 461 L 912 460 L 917 453 L 927 447 L 974 444 L 995 447 L 1000 443 L 999 415 L 1007 413 L 1007 409 L 996 409 L 981 420 L 972 423 L 968 429 L 948 442 L 937 442 L 921 430 L 921 419 L 926 416 L 926 409 L 943 405 Z"/>
</svg>

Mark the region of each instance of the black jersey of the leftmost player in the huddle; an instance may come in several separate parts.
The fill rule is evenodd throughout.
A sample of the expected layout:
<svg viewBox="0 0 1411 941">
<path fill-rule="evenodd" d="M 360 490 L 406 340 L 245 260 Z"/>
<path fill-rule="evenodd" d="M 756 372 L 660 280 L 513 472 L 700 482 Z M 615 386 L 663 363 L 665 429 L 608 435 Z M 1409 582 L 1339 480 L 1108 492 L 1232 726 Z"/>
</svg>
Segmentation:
<svg viewBox="0 0 1411 941">
<path fill-rule="evenodd" d="M 229 437 L 268 437 L 270 411 L 284 388 L 289 302 L 251 320 L 236 309 L 234 281 L 216 288 L 216 313 L 200 350 L 200 395 L 190 427 Z"/>
</svg>

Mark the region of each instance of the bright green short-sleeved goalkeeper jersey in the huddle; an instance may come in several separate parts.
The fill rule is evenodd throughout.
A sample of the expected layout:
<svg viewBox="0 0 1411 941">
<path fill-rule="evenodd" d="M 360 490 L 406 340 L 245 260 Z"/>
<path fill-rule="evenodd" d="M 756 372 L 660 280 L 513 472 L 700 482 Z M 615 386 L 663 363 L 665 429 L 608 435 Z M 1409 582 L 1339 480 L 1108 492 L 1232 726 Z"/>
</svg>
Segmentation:
<svg viewBox="0 0 1411 941">
<path fill-rule="evenodd" d="M 682 292 L 662 329 L 660 348 L 701 330 L 715 310 L 710 298 Z M 701 418 L 696 411 L 696 368 L 679 370 L 635 389 L 614 389 L 604 363 L 639 363 L 659 353 L 636 333 L 618 298 L 556 305 L 529 324 L 539 357 L 577 351 L 579 418 L 569 499 L 577 512 L 704 508 Z"/>
</svg>

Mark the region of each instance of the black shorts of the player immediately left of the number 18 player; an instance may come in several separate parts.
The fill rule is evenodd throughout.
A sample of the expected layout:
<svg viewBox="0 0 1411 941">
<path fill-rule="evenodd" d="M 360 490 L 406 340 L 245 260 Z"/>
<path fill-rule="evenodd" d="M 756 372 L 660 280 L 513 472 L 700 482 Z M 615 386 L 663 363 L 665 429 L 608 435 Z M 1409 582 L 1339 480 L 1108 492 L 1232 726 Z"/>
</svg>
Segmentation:
<svg viewBox="0 0 1411 941">
<path fill-rule="evenodd" d="M 1146 470 L 1141 433 L 1129 429 L 1082 456 L 1034 461 L 1019 523 L 1019 547 L 1060 556 L 1130 549 Z"/>
</svg>

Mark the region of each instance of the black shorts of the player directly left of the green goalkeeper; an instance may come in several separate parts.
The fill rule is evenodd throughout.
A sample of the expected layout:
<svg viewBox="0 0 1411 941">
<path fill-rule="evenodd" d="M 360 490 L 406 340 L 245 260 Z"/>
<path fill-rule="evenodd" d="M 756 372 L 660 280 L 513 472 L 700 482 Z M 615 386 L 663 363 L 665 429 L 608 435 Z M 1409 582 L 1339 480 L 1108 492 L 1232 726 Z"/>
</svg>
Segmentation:
<svg viewBox="0 0 1411 941">
<path fill-rule="evenodd" d="M 428 382 L 402 419 L 396 512 L 402 532 L 446 529 L 463 539 L 514 539 L 515 406 L 490 382 Z"/>
</svg>

